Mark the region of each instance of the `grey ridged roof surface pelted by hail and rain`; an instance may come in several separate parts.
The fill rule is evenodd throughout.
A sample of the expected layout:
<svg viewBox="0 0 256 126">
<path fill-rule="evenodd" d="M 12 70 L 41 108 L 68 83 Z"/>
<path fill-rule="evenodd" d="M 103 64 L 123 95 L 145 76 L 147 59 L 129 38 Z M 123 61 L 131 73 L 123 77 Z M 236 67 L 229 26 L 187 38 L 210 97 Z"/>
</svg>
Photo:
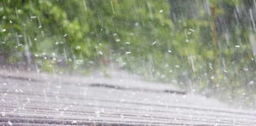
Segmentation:
<svg viewBox="0 0 256 126">
<path fill-rule="evenodd" d="M 256 125 L 256 112 L 131 80 L 0 71 L 1 125 Z"/>
</svg>

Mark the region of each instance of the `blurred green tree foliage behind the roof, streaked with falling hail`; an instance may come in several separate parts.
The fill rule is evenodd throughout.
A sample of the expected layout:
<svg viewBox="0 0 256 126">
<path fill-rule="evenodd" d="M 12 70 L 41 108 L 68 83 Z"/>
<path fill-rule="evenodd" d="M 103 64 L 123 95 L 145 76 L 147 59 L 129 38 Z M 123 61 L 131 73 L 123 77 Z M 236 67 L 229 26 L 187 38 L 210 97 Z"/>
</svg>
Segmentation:
<svg viewBox="0 0 256 126">
<path fill-rule="evenodd" d="M 253 107 L 255 6 L 252 0 L 2 0 L 0 65 L 88 74 L 117 62 L 147 81 Z"/>
</svg>

